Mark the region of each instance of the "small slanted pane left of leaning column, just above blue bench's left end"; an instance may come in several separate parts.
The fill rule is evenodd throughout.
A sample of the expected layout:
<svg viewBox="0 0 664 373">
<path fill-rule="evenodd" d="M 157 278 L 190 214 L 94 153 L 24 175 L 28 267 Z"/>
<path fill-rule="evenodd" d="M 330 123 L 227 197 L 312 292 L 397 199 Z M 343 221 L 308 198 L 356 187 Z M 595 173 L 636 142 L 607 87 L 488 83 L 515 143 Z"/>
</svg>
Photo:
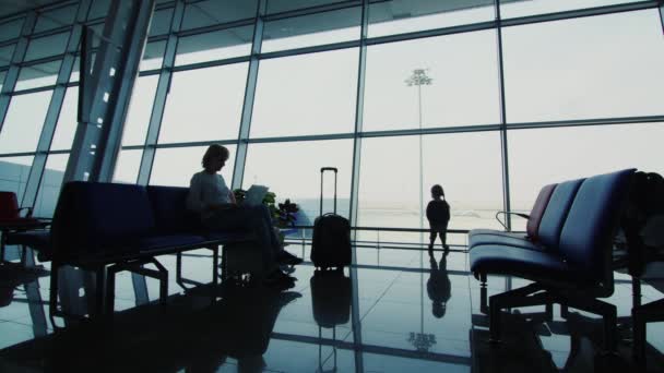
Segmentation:
<svg viewBox="0 0 664 373">
<path fill-rule="evenodd" d="M 69 154 L 51 154 L 46 160 L 46 169 L 39 184 L 34 216 L 52 217 L 62 186 L 62 178 L 67 168 Z"/>
</svg>

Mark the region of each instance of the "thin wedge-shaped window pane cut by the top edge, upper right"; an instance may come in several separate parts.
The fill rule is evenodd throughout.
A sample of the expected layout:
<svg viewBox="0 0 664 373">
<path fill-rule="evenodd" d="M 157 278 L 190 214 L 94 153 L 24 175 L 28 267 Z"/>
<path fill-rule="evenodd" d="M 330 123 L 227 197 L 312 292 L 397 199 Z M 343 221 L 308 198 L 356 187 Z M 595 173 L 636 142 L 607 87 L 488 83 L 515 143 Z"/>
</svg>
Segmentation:
<svg viewBox="0 0 664 373">
<path fill-rule="evenodd" d="M 640 0 L 500 0 L 500 16 L 502 19 L 512 19 L 637 1 Z"/>
</svg>

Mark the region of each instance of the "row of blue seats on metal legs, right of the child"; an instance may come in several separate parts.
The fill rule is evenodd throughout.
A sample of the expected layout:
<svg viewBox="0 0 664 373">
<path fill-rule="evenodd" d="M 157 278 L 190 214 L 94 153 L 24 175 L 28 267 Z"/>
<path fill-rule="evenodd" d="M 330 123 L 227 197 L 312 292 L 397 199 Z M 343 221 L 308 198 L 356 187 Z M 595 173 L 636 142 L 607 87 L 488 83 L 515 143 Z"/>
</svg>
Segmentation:
<svg viewBox="0 0 664 373">
<path fill-rule="evenodd" d="M 517 238 L 479 234 L 487 241 L 470 251 L 470 269 L 482 281 L 481 310 L 486 312 L 487 275 L 505 275 L 533 281 L 489 299 L 489 329 L 500 339 L 502 309 L 553 303 L 600 314 L 604 318 L 605 348 L 616 350 L 616 306 L 600 300 L 614 292 L 613 240 L 625 209 L 635 169 L 597 175 L 559 183 L 540 224 L 542 250 L 507 244 Z M 490 242 L 489 242 L 490 241 Z M 496 243 L 501 241 L 501 243 Z M 567 311 L 564 312 L 566 314 Z"/>
</svg>

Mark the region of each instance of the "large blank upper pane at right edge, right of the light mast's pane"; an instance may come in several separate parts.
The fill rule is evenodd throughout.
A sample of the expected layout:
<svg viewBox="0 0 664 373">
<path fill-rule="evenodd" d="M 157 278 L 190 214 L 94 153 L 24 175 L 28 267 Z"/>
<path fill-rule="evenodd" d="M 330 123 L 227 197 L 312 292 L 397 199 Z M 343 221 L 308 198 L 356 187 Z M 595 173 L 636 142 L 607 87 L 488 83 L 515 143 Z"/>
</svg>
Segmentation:
<svg viewBox="0 0 664 373">
<path fill-rule="evenodd" d="M 508 123 L 664 113 L 656 10 L 503 29 Z"/>
</svg>

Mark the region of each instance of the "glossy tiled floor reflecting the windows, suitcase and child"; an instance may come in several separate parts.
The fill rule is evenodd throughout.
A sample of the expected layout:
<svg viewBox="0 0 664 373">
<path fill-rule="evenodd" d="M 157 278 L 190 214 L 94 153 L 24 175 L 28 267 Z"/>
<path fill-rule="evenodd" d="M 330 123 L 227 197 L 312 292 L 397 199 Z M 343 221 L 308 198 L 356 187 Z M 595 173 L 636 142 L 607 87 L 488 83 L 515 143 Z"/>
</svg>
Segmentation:
<svg viewBox="0 0 664 373">
<path fill-rule="evenodd" d="M 309 248 L 288 250 L 309 257 Z M 629 342 L 618 356 L 598 353 L 601 323 L 572 310 L 568 321 L 538 321 L 543 308 L 503 315 L 503 341 L 488 339 L 479 285 L 467 255 L 358 249 L 353 269 L 315 274 L 305 263 L 289 289 L 262 286 L 183 291 L 175 282 L 168 305 L 137 306 L 131 276 L 121 273 L 112 324 L 48 321 L 48 263 L 44 270 L 0 267 L 0 372 L 592 372 L 630 370 Z M 194 251 L 183 275 L 210 281 L 211 257 Z M 629 278 L 616 274 L 609 299 L 629 315 Z M 515 278 L 489 278 L 489 293 L 517 288 Z M 643 286 L 644 302 L 661 299 Z M 662 287 L 659 287 L 662 289 Z M 156 281 L 147 280 L 155 300 Z M 54 332 L 57 329 L 57 332 Z M 649 371 L 664 371 L 664 323 L 649 324 Z M 629 330 L 621 328 L 621 336 Z"/>
</svg>

